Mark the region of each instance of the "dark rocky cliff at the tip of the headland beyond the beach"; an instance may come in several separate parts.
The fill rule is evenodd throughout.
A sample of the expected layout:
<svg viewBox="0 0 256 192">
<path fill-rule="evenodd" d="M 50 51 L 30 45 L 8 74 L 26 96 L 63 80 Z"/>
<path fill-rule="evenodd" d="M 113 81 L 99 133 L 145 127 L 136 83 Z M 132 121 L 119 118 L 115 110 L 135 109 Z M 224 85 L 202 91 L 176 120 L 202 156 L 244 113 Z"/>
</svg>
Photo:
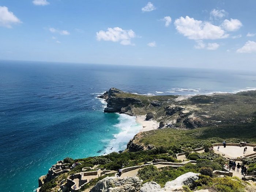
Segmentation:
<svg viewBox="0 0 256 192">
<path fill-rule="evenodd" d="M 131 110 L 131 105 L 144 106 L 142 101 L 138 98 L 118 97 L 118 94 L 125 94 L 125 92 L 119 89 L 111 88 L 107 93 L 108 99 L 106 99 L 106 101 L 108 104 L 104 109 L 105 113 L 126 113 L 128 110 Z M 104 97 L 103 95 L 102 97 Z"/>
</svg>

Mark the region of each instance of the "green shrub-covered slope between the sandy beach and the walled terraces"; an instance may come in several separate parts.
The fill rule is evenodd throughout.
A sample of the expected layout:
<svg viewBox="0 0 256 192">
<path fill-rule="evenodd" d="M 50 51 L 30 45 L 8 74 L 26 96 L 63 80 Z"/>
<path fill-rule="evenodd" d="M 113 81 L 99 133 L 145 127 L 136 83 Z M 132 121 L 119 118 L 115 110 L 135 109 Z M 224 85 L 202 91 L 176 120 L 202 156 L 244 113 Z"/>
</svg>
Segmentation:
<svg viewBox="0 0 256 192">
<path fill-rule="evenodd" d="M 255 127 L 256 123 L 233 125 L 230 127 L 204 127 L 191 130 L 165 128 L 141 132 L 138 142 L 144 145 L 151 144 L 155 147 L 170 147 L 178 144 L 182 147 L 192 148 L 202 147 L 205 140 L 210 143 L 222 143 L 224 140 L 226 143 L 240 143 L 241 141 L 256 143 Z"/>
</svg>

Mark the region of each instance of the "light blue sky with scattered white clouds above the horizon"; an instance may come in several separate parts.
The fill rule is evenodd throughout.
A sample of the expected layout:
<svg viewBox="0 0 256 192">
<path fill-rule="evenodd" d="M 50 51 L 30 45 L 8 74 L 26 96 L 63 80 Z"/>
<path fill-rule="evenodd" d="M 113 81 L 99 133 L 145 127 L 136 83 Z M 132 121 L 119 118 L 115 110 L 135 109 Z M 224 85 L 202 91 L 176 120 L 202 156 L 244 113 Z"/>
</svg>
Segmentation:
<svg viewBox="0 0 256 192">
<path fill-rule="evenodd" d="M 255 0 L 0 0 L 0 60 L 256 70 Z"/>
</svg>

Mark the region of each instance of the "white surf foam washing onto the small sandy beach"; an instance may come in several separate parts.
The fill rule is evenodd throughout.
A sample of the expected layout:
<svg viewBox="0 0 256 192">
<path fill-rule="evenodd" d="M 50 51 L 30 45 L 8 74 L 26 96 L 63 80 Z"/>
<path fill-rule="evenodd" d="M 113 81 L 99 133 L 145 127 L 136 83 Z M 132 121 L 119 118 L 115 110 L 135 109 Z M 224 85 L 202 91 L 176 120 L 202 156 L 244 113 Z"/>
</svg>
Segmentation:
<svg viewBox="0 0 256 192">
<path fill-rule="evenodd" d="M 108 141 L 108 147 L 105 148 L 103 153 L 112 153 L 113 151 L 124 150 L 127 143 L 132 139 L 136 133 L 142 129 L 142 125 L 136 123 L 136 117 L 128 116 L 126 114 L 119 114 L 119 123 L 114 127 L 120 129 L 120 132 L 113 135 L 113 139 Z"/>
</svg>

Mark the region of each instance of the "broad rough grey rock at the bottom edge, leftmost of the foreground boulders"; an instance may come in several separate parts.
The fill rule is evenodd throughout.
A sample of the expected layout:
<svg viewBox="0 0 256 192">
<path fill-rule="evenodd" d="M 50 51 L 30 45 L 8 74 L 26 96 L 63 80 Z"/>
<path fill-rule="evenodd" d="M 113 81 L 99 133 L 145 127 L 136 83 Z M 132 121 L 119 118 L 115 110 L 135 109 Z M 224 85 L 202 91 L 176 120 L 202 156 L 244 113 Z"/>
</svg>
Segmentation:
<svg viewBox="0 0 256 192">
<path fill-rule="evenodd" d="M 142 180 L 139 177 L 106 177 L 100 180 L 90 192 L 139 192 Z"/>
</svg>

